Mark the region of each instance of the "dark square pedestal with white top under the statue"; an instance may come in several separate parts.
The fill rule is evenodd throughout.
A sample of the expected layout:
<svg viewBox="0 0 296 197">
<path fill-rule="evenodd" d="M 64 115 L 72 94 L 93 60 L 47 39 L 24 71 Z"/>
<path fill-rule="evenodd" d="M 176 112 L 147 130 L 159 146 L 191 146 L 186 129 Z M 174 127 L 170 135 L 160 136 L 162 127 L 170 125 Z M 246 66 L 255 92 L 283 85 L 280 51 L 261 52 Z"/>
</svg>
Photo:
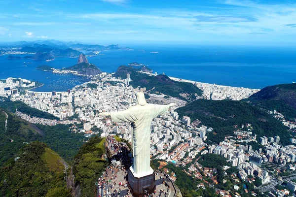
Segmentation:
<svg viewBox="0 0 296 197">
<path fill-rule="evenodd" d="M 155 173 L 151 167 L 147 173 L 136 174 L 131 166 L 128 170 L 127 179 L 133 197 L 144 197 L 145 194 L 152 194 L 156 189 Z"/>
</svg>

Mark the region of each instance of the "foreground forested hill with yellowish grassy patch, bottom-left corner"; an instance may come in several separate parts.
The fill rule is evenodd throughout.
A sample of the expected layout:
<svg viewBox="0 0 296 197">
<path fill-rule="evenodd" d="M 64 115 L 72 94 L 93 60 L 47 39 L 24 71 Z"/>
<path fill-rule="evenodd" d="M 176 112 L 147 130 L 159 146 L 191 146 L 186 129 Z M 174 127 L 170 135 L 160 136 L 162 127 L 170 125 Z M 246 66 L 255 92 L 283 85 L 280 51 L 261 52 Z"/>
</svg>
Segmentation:
<svg viewBox="0 0 296 197">
<path fill-rule="evenodd" d="M 64 160 L 44 143 L 31 142 L 1 167 L 1 197 L 72 197 Z"/>
</svg>

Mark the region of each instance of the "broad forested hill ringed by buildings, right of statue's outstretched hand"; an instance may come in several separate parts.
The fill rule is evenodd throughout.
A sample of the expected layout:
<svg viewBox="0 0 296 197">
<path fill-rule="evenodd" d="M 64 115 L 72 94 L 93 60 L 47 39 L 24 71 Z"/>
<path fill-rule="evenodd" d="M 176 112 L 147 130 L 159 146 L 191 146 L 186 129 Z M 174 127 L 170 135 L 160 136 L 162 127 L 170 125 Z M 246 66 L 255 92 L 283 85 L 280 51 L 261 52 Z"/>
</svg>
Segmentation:
<svg viewBox="0 0 296 197">
<path fill-rule="evenodd" d="M 233 135 L 235 125 L 241 128 L 243 124 L 251 124 L 257 138 L 279 135 L 283 145 L 290 143 L 291 135 L 287 127 L 266 111 L 247 102 L 198 99 L 177 109 L 177 112 L 180 117 L 187 115 L 192 122 L 198 119 L 201 124 L 214 128 L 207 135 L 216 143 L 223 141 L 226 135 Z"/>
</svg>

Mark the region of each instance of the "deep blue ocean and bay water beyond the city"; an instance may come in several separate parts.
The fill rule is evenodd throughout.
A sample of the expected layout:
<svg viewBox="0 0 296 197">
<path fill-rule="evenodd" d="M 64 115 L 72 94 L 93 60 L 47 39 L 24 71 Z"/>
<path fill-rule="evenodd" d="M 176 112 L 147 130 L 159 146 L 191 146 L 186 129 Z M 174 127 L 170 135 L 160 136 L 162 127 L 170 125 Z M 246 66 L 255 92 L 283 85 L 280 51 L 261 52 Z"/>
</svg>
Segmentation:
<svg viewBox="0 0 296 197">
<path fill-rule="evenodd" d="M 264 88 L 296 82 L 296 48 L 245 46 L 129 46 L 134 51 L 111 50 L 87 57 L 105 72 L 131 62 L 148 65 L 153 72 L 219 85 Z M 144 50 L 144 51 L 142 51 Z M 150 53 L 157 51 L 158 54 Z M 24 56 L 24 55 L 21 55 Z M 86 77 L 53 74 L 37 70 L 40 65 L 55 68 L 73 66 L 77 58 L 54 61 L 7 60 L 0 56 L 0 79 L 22 77 L 44 83 L 36 91 L 66 91 L 88 81 Z M 32 64 L 24 64 L 32 62 Z M 26 65 L 26 66 L 24 66 Z"/>
</svg>

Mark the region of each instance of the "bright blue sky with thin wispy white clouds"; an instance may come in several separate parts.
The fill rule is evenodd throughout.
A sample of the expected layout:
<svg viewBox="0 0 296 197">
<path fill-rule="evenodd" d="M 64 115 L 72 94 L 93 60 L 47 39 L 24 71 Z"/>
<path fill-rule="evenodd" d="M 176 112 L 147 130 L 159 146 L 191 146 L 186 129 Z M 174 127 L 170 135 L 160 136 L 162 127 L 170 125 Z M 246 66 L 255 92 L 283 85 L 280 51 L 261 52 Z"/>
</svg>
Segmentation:
<svg viewBox="0 0 296 197">
<path fill-rule="evenodd" d="M 296 44 L 295 0 L 0 0 L 0 41 Z"/>
</svg>

